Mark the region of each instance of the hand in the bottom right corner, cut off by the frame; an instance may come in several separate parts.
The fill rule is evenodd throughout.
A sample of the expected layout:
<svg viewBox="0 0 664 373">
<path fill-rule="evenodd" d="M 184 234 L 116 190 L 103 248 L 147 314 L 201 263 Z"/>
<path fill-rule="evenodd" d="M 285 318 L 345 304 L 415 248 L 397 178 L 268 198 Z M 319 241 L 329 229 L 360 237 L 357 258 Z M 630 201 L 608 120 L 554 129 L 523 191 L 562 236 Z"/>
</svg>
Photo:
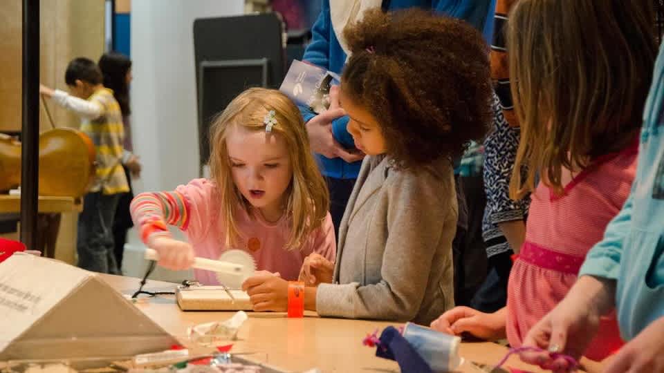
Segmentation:
<svg viewBox="0 0 664 373">
<path fill-rule="evenodd" d="M 664 317 L 653 321 L 611 358 L 605 373 L 664 372 Z"/>
</svg>

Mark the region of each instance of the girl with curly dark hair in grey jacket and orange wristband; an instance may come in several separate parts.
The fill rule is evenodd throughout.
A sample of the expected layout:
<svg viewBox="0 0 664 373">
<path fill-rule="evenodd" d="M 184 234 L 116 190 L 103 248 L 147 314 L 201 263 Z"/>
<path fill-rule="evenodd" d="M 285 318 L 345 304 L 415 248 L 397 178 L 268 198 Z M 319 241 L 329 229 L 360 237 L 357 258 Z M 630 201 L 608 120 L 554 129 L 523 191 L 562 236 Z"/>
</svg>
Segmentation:
<svg viewBox="0 0 664 373">
<path fill-rule="evenodd" d="M 304 262 L 304 307 L 320 316 L 430 323 L 454 305 L 452 158 L 492 118 L 488 48 L 472 26 L 424 10 L 368 11 L 344 37 L 352 55 L 329 110 L 349 116 L 367 157 L 336 262 L 315 254 Z M 257 311 L 286 309 L 278 282 L 244 283 Z"/>
</svg>

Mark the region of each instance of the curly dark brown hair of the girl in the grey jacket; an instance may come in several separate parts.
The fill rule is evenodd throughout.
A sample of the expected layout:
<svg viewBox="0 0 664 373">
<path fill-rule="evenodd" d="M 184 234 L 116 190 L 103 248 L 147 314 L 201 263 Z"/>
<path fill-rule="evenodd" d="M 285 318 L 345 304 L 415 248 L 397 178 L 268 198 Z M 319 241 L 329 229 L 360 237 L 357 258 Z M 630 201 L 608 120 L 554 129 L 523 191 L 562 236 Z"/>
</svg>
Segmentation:
<svg viewBox="0 0 664 373">
<path fill-rule="evenodd" d="M 421 9 L 365 12 L 344 29 L 344 94 L 371 113 L 403 167 L 459 157 L 492 119 L 488 46 L 458 19 Z"/>
</svg>

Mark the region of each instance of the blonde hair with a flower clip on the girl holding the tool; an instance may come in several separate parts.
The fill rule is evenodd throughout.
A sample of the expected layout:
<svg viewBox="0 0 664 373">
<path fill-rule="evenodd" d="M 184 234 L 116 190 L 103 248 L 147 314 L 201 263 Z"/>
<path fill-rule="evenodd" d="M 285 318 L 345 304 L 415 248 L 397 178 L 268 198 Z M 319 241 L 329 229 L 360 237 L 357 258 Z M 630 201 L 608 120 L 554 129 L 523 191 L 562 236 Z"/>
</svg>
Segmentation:
<svg viewBox="0 0 664 373">
<path fill-rule="evenodd" d="M 266 131 L 264 118 L 275 111 L 277 124 L 272 133 L 286 140 L 288 156 L 293 168 L 293 180 L 286 190 L 286 213 L 290 220 L 291 236 L 285 249 L 301 247 L 309 234 L 320 227 L 329 209 L 329 194 L 309 148 L 309 141 L 297 106 L 278 90 L 250 88 L 235 97 L 214 119 L 210 128 L 210 173 L 221 198 L 221 218 L 225 222 L 226 245 L 237 245 L 241 233 L 235 212 L 245 209 L 251 216 L 250 204 L 235 187 L 226 136 L 232 126 L 250 131 Z"/>
</svg>

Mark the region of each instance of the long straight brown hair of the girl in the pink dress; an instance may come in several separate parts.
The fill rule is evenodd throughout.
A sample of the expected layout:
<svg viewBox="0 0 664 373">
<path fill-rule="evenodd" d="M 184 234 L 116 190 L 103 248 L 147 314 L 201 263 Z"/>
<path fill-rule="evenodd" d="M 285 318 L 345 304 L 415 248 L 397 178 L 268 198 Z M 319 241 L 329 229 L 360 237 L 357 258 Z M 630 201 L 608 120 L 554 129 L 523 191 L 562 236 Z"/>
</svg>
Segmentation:
<svg viewBox="0 0 664 373">
<path fill-rule="evenodd" d="M 656 56 L 651 6 L 521 0 L 513 8 L 508 54 L 521 141 L 512 198 L 532 191 L 538 173 L 562 193 L 562 167 L 584 169 L 634 140 Z"/>
</svg>

